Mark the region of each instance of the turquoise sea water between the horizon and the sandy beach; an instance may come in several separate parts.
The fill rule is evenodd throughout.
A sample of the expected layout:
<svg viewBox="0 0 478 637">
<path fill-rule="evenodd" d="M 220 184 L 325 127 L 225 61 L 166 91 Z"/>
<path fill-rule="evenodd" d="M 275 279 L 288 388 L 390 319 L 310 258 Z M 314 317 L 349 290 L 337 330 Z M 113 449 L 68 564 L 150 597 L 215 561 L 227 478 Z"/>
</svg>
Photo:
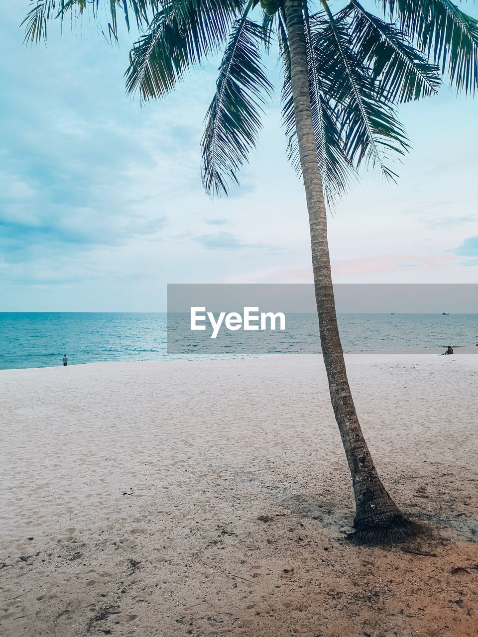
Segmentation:
<svg viewBox="0 0 478 637">
<path fill-rule="evenodd" d="M 284 338 L 261 333 L 256 351 L 250 352 L 244 340 L 242 349 L 233 354 L 224 349 L 219 355 L 320 351 L 315 315 L 287 315 L 287 320 L 294 329 Z M 478 342 L 476 314 L 341 314 L 338 322 L 345 352 L 414 348 L 438 353 L 447 345 Z M 194 346 L 185 354 L 168 356 L 166 313 L 0 313 L 0 369 L 57 366 L 65 353 L 69 364 L 198 357 Z"/>
</svg>

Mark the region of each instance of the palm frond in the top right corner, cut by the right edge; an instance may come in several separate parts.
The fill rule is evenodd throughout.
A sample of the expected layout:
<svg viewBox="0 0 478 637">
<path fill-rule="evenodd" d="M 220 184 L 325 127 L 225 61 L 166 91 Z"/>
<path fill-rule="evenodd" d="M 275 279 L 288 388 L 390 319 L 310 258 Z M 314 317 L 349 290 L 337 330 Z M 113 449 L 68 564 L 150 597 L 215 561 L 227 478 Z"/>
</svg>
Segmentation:
<svg viewBox="0 0 478 637">
<path fill-rule="evenodd" d="M 478 20 L 451 0 L 380 0 L 386 15 L 458 90 L 478 88 Z"/>
</svg>

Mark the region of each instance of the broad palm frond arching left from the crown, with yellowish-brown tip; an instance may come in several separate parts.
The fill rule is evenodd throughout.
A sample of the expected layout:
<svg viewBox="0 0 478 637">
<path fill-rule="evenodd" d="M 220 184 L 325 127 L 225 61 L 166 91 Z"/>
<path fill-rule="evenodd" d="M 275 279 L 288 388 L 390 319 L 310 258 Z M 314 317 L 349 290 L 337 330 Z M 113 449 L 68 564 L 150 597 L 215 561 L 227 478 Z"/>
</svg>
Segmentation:
<svg viewBox="0 0 478 637">
<path fill-rule="evenodd" d="M 162 97 L 218 50 L 242 7 L 243 0 L 168 0 L 129 54 L 127 92 L 146 101 Z"/>
</svg>

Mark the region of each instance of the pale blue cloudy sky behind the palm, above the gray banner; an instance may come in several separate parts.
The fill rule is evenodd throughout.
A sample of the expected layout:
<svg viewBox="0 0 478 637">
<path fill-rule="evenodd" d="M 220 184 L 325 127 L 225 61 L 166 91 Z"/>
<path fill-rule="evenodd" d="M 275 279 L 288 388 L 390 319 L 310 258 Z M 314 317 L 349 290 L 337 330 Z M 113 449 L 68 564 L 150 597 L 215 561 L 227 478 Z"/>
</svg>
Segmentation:
<svg viewBox="0 0 478 637">
<path fill-rule="evenodd" d="M 0 26 L 0 311 L 164 311 L 167 283 L 312 282 L 275 58 L 257 151 L 212 201 L 200 140 L 218 60 L 141 106 L 124 90 L 134 32 L 111 47 L 87 22 L 54 23 L 27 47 L 25 5 L 6 3 Z M 334 282 L 478 282 L 477 114 L 447 87 L 400 108 L 398 184 L 366 174 L 330 213 Z"/>
</svg>

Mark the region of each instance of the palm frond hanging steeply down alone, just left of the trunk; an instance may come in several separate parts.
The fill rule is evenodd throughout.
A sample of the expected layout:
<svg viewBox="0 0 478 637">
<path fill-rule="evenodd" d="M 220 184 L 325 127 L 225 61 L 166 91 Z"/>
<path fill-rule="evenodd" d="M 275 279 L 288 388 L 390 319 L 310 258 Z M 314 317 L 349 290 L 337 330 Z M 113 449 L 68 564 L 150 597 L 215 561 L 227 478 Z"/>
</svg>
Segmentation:
<svg viewBox="0 0 478 637">
<path fill-rule="evenodd" d="M 264 95 L 272 92 L 261 65 L 262 43 L 261 25 L 247 17 L 236 20 L 222 57 L 201 143 L 203 184 L 211 196 L 227 194 L 229 183 L 238 183 L 238 173 L 248 161 L 250 149 L 256 146 Z"/>
</svg>

